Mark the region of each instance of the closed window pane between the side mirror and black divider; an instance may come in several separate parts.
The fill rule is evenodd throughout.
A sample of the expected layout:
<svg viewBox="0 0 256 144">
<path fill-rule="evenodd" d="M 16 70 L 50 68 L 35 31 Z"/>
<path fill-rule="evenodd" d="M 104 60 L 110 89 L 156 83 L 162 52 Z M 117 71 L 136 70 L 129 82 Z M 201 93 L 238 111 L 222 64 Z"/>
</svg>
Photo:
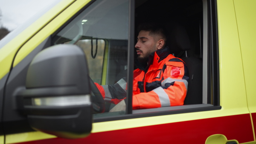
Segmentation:
<svg viewBox="0 0 256 144">
<path fill-rule="evenodd" d="M 128 0 L 96 0 L 52 39 L 54 44 L 76 44 L 84 51 L 89 76 L 97 86 L 113 86 L 127 75 L 128 8 Z M 125 98 L 126 92 L 122 95 Z M 103 98 L 104 104 L 99 97 L 92 98 L 96 116 L 125 114 L 124 109 L 109 112 L 117 103 L 107 95 Z"/>
</svg>

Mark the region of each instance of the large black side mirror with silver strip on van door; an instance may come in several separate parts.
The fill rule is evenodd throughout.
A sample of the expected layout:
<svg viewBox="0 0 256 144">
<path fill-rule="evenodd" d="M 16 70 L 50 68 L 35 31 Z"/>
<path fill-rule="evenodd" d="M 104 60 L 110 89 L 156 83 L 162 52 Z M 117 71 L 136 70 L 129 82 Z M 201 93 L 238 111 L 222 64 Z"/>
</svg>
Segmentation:
<svg viewBox="0 0 256 144">
<path fill-rule="evenodd" d="M 90 80 L 84 52 L 75 45 L 44 49 L 30 63 L 20 108 L 30 126 L 62 138 L 82 138 L 92 128 Z"/>
</svg>

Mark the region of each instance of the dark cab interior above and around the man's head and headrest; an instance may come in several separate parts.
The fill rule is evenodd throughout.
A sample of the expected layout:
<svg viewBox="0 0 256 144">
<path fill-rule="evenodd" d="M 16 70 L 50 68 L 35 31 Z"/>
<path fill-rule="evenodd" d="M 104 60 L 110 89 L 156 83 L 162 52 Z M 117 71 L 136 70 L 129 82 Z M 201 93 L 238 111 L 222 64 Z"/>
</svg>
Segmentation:
<svg viewBox="0 0 256 144">
<path fill-rule="evenodd" d="M 172 50 L 170 35 L 175 25 L 183 26 L 191 45 L 191 49 L 187 50 L 188 55 L 202 58 L 202 0 L 135 0 L 135 7 L 135 28 L 145 22 L 163 23 L 169 33 L 167 44 L 171 52 L 175 57 L 182 58 L 185 56 L 184 52 L 180 52 L 182 50 Z M 135 29 L 135 42 L 137 35 Z"/>
</svg>

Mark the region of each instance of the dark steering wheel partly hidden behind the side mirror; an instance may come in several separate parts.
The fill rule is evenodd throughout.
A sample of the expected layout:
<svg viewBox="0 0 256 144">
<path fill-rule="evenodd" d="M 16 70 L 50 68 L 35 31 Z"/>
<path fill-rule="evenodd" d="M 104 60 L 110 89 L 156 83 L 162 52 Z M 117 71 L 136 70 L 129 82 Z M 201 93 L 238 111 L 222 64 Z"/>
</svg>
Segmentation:
<svg viewBox="0 0 256 144">
<path fill-rule="evenodd" d="M 90 78 L 90 77 L 89 77 Z M 95 112 L 104 112 L 105 111 L 105 101 L 99 92 L 99 89 L 97 86 L 94 84 L 93 80 L 90 78 L 90 86 L 92 89 L 92 99 L 93 99 L 93 110 Z"/>
</svg>

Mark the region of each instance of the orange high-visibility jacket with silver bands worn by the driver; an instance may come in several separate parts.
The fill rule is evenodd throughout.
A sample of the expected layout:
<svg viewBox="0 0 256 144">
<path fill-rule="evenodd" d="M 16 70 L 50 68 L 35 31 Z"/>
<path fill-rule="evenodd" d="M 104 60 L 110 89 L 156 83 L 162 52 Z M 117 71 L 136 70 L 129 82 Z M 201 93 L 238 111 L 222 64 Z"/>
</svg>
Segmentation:
<svg viewBox="0 0 256 144">
<path fill-rule="evenodd" d="M 133 109 L 183 105 L 188 81 L 186 64 L 170 54 L 168 47 L 151 53 L 148 66 L 134 70 Z M 126 97 L 125 78 L 114 85 L 96 85 L 105 101 L 117 104 Z"/>
</svg>

